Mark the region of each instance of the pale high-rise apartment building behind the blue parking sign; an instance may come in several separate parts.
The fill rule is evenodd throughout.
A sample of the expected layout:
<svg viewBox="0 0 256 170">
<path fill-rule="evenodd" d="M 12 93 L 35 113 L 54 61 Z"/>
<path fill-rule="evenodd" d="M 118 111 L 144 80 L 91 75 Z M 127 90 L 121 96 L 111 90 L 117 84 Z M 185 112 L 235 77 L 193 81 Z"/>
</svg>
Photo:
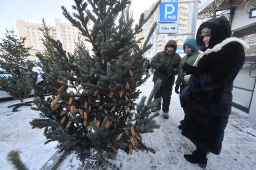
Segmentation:
<svg viewBox="0 0 256 170">
<path fill-rule="evenodd" d="M 148 16 L 149 12 L 152 10 L 154 7 L 154 4 L 146 10 L 145 16 Z M 143 31 L 140 33 L 139 37 L 144 37 L 146 39 L 152 24 L 155 21 L 158 21 L 158 13 L 159 13 L 159 8 L 155 10 L 154 14 L 152 14 L 151 18 L 148 20 L 148 22 L 143 25 L 142 29 Z M 178 32 L 177 34 L 187 34 L 189 33 L 189 5 L 188 4 L 179 4 L 179 9 L 178 9 Z M 154 43 L 154 41 L 157 41 L 157 52 L 160 52 L 161 50 L 164 49 L 165 44 L 169 40 L 175 40 L 178 44 L 178 48 L 183 47 L 184 41 L 187 39 L 187 35 L 172 35 L 172 34 L 156 34 L 156 37 L 152 36 L 151 40 L 149 43 Z M 144 40 L 142 41 L 142 44 L 144 43 Z M 151 58 L 154 56 L 154 53 L 152 53 L 152 48 L 149 49 L 146 52 L 146 57 Z"/>
</svg>

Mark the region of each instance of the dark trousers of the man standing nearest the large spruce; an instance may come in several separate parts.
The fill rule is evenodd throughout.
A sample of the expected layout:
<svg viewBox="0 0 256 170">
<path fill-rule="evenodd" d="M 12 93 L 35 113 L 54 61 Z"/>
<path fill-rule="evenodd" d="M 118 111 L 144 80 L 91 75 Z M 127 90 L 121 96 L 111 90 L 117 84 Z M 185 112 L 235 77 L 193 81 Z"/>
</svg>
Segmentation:
<svg viewBox="0 0 256 170">
<path fill-rule="evenodd" d="M 170 96 L 172 96 L 172 87 L 160 87 L 154 96 L 155 99 L 163 99 L 163 112 L 169 112 Z M 161 103 L 159 103 L 159 106 L 161 106 Z"/>
</svg>

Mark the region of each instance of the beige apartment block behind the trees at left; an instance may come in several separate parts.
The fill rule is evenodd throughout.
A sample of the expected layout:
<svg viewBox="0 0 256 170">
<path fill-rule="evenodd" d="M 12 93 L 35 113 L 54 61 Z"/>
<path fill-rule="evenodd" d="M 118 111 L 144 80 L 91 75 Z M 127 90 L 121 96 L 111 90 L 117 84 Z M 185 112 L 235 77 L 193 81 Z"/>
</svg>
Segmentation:
<svg viewBox="0 0 256 170">
<path fill-rule="evenodd" d="M 17 20 L 17 30 L 20 37 L 27 37 L 25 46 L 32 46 L 31 52 L 43 51 L 44 47 L 42 44 L 43 33 L 39 30 L 42 24 L 30 23 L 26 20 Z M 63 44 L 63 48 L 67 52 L 73 53 L 75 50 L 75 41 L 78 38 L 79 31 L 77 28 L 71 25 L 71 23 L 61 22 L 60 19 L 55 19 L 55 25 L 48 25 L 51 28 L 50 34 L 55 40 L 60 40 Z M 88 23 L 89 29 L 92 28 L 92 22 Z M 92 44 L 87 41 L 86 47 L 92 50 Z"/>
</svg>

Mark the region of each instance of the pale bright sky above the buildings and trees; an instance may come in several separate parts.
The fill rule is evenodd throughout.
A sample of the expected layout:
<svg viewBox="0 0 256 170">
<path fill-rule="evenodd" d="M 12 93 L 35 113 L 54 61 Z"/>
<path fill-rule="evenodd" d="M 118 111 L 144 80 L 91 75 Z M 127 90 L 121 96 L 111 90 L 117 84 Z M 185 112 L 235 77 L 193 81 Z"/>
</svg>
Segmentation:
<svg viewBox="0 0 256 170">
<path fill-rule="evenodd" d="M 147 10 L 157 0 L 133 0 L 131 8 L 134 11 L 134 19 Z M 62 14 L 61 5 L 72 11 L 72 0 L 0 0 L 0 37 L 3 38 L 5 28 L 17 32 L 16 20 L 23 19 L 30 23 L 41 23 L 42 17 L 46 23 L 54 25 L 54 19 L 69 22 Z"/>
</svg>

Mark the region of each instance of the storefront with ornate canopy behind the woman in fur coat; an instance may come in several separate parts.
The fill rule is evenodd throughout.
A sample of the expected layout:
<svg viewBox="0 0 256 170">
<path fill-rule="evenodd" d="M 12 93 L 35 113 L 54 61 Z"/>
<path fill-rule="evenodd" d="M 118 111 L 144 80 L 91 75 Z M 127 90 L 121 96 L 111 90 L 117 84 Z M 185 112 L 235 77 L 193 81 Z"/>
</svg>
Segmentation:
<svg viewBox="0 0 256 170">
<path fill-rule="evenodd" d="M 256 124 L 256 17 L 249 17 L 254 8 L 256 0 L 207 1 L 199 9 L 198 19 L 226 16 L 233 37 L 249 44 L 250 49 L 245 50 L 245 64 L 234 80 L 233 106 L 248 113 L 248 120 Z"/>
</svg>

